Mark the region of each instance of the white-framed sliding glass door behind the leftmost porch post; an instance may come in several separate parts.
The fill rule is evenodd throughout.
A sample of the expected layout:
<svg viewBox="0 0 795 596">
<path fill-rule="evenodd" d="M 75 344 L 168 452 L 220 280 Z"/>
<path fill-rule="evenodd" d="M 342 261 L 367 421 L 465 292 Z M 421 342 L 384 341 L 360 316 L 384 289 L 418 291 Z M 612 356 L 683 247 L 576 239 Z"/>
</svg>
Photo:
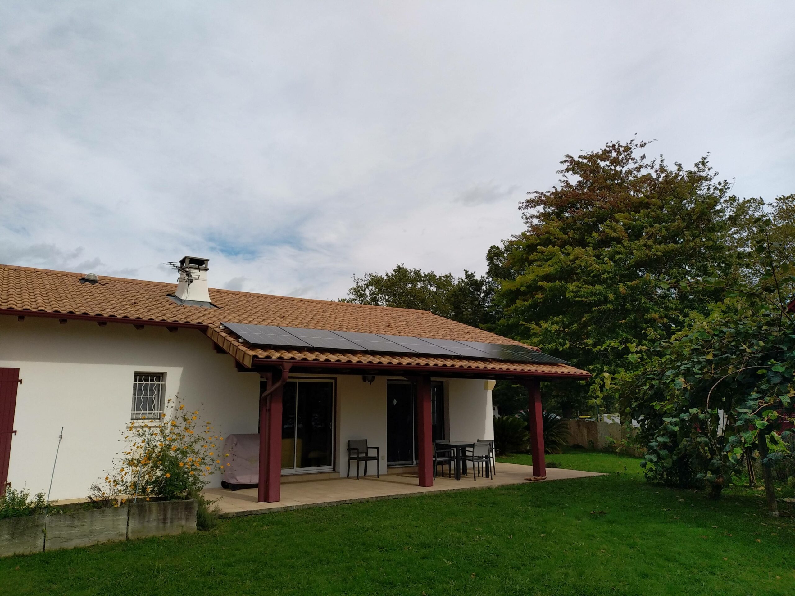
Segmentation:
<svg viewBox="0 0 795 596">
<path fill-rule="evenodd" d="M 332 470 L 334 381 L 288 381 L 282 397 L 281 473 Z"/>
</svg>

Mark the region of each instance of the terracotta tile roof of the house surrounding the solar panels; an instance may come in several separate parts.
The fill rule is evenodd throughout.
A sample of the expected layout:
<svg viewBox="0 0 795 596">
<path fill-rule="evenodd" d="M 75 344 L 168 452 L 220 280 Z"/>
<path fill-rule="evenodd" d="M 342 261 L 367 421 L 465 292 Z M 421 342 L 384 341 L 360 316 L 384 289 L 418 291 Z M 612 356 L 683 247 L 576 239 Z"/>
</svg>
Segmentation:
<svg viewBox="0 0 795 596">
<path fill-rule="evenodd" d="M 230 335 L 223 334 L 219 323 L 283 325 L 483 343 L 519 343 L 427 311 L 407 308 L 271 296 L 217 288 L 210 289 L 210 299 L 218 308 L 204 308 L 177 304 L 171 300 L 169 294 L 175 291 L 176 283 L 103 276 L 99 277 L 99 283 L 88 284 L 81 281 L 82 278 L 83 273 L 0 265 L 0 311 L 20 315 L 26 312 L 86 315 L 144 324 L 193 324 L 205 328 L 207 335 L 216 343 L 226 343 L 230 347 L 227 351 L 240 355 L 238 361 L 246 366 L 250 366 L 252 358 L 276 358 L 316 362 L 398 363 L 479 370 L 555 370 L 576 376 L 588 375 L 565 365 L 539 366 L 494 360 L 387 356 L 362 352 L 250 349 Z"/>
</svg>

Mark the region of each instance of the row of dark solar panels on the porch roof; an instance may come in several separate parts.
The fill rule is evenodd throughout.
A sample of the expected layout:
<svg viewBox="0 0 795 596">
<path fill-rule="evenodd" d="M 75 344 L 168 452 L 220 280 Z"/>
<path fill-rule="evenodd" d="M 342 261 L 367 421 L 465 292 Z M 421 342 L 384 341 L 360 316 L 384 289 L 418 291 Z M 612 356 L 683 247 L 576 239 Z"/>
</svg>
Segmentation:
<svg viewBox="0 0 795 596">
<path fill-rule="evenodd" d="M 317 350 L 357 350 L 382 354 L 422 354 L 454 358 L 490 358 L 533 364 L 568 364 L 565 360 L 543 354 L 537 350 L 502 343 L 464 342 L 452 339 L 276 327 L 273 325 L 222 324 L 253 346 L 309 347 Z"/>
</svg>

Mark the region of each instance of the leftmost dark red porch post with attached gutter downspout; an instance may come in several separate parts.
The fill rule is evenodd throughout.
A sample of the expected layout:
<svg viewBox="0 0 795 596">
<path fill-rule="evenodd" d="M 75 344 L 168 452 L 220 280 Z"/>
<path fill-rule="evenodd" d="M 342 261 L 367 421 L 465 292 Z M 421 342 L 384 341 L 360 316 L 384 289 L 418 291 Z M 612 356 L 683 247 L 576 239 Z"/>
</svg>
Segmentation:
<svg viewBox="0 0 795 596">
<path fill-rule="evenodd" d="M 257 502 L 281 500 L 281 395 L 289 378 L 290 364 L 281 365 L 281 378 L 260 396 L 259 483 Z"/>
</svg>

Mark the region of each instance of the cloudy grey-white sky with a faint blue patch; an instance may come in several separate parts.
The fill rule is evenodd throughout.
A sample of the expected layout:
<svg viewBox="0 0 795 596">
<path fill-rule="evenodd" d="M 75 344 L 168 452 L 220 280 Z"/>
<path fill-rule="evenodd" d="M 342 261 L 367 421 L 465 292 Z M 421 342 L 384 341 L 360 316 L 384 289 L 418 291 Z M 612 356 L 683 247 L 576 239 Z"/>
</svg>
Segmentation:
<svg viewBox="0 0 795 596">
<path fill-rule="evenodd" d="M 0 4 L 0 262 L 339 298 L 483 273 L 564 153 L 637 134 L 795 192 L 795 2 Z"/>
</svg>

